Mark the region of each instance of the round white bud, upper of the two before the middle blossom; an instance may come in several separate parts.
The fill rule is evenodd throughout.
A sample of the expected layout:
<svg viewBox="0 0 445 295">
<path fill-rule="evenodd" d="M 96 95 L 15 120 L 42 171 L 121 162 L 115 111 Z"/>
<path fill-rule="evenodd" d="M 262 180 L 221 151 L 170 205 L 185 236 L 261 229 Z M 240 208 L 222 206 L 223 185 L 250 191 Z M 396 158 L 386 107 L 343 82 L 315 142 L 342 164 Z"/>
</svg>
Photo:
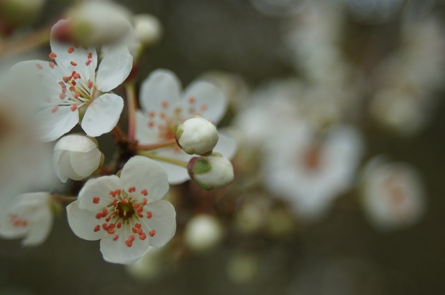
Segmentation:
<svg viewBox="0 0 445 295">
<path fill-rule="evenodd" d="M 218 143 L 218 130 L 215 125 L 202 117 L 193 117 L 179 124 L 176 139 L 189 155 L 209 155 Z"/>
</svg>

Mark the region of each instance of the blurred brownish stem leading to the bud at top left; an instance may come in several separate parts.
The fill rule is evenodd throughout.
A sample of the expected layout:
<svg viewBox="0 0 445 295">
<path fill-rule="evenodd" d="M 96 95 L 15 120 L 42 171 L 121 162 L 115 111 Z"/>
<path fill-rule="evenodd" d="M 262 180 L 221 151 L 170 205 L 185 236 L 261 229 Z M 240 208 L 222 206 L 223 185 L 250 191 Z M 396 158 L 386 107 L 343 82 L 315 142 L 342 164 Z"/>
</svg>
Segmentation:
<svg viewBox="0 0 445 295">
<path fill-rule="evenodd" d="M 42 28 L 39 31 L 26 35 L 19 40 L 0 43 L 0 56 L 12 56 L 24 51 L 29 51 L 44 43 L 49 42 L 49 28 Z"/>
</svg>

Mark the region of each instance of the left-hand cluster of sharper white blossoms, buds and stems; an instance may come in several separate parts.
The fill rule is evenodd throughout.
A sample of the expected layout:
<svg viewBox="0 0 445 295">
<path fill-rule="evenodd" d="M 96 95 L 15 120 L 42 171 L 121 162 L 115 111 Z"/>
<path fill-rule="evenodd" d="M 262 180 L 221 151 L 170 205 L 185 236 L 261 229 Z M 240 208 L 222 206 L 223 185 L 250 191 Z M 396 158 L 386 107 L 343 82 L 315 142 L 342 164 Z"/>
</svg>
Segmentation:
<svg viewBox="0 0 445 295">
<path fill-rule="evenodd" d="M 83 18 L 82 11 L 102 9 L 113 17 L 102 15 L 103 19 L 96 18 L 97 23 L 84 23 L 95 18 Z M 2 185 L 0 236 L 24 237 L 26 246 L 41 244 L 51 232 L 54 215 L 68 203 L 67 218 L 73 232 L 83 239 L 100 239 L 104 260 L 129 264 L 149 246 L 164 246 L 175 235 L 175 208 L 163 200 L 170 185 L 193 179 L 210 190 L 225 187 L 234 179 L 229 158 L 236 150 L 235 141 L 218 133 L 214 125 L 225 114 L 227 101 L 217 87 L 205 81 L 193 83 L 181 97 L 179 79 L 161 69 L 143 81 L 139 95 L 142 109 L 138 110 L 135 81 L 129 75 L 143 44 L 159 37 L 159 22 L 140 16 L 131 24 L 120 6 L 107 6 L 103 1 L 73 8 L 70 15 L 51 28 L 49 60 L 18 62 L 10 69 L 10 85 L 2 85 L 1 92 L 2 98 L 30 98 L 26 115 L 31 118 L 32 138 L 42 149 L 45 143 L 58 140 L 49 175 L 56 174 L 66 187 L 60 189 L 58 180 L 51 176 L 38 184 L 26 178 L 28 182 L 17 180 L 5 189 Z M 117 22 L 114 24 L 122 31 L 104 40 L 99 38 L 104 37 L 100 32 L 109 20 Z M 74 34 L 80 28 L 90 34 Z M 84 39 L 79 40 L 81 37 Z M 96 46 L 101 44 L 99 55 Z M 128 44 L 138 44 L 138 49 Z M 10 91 L 21 83 L 27 87 Z M 127 90 L 128 134 L 118 125 L 124 99 L 112 92 L 122 84 Z M 3 123 L 6 131 L 11 128 L 9 121 Z M 83 133 L 70 133 L 77 125 Z M 23 140 L 22 127 L 15 132 Z M 110 132 L 117 148 L 116 156 L 107 162 L 95 137 Z M 5 142 L 11 140 L 6 138 Z M 8 152 L 13 161 L 22 156 L 12 149 Z M 8 156 L 6 151 L 3 155 Z M 30 170 L 29 178 L 42 173 L 39 165 Z M 4 174 L 13 173 L 6 167 Z M 3 171 L 1 176 L 6 183 Z M 31 192 L 35 187 L 44 191 Z"/>
</svg>

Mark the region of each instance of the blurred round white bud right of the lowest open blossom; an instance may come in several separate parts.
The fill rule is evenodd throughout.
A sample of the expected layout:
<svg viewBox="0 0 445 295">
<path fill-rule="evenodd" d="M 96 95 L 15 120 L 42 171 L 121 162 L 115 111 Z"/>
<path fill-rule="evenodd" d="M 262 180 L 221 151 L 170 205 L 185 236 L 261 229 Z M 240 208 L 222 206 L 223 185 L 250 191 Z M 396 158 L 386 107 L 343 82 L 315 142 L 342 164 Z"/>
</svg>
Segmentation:
<svg viewBox="0 0 445 295">
<path fill-rule="evenodd" d="M 216 217 L 200 214 L 186 225 L 184 242 L 193 251 L 207 251 L 223 239 L 223 227 Z"/>
</svg>

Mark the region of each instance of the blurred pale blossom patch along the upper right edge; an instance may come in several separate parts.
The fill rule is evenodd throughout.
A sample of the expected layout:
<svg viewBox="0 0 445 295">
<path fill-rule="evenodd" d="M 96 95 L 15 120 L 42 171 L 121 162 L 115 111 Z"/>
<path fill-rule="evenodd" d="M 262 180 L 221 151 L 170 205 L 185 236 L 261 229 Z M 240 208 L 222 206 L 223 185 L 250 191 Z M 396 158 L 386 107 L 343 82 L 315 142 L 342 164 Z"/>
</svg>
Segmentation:
<svg viewBox="0 0 445 295">
<path fill-rule="evenodd" d="M 384 127 L 414 135 L 428 124 L 445 74 L 445 37 L 437 19 L 407 22 L 403 43 L 373 73 L 370 112 Z"/>
</svg>

